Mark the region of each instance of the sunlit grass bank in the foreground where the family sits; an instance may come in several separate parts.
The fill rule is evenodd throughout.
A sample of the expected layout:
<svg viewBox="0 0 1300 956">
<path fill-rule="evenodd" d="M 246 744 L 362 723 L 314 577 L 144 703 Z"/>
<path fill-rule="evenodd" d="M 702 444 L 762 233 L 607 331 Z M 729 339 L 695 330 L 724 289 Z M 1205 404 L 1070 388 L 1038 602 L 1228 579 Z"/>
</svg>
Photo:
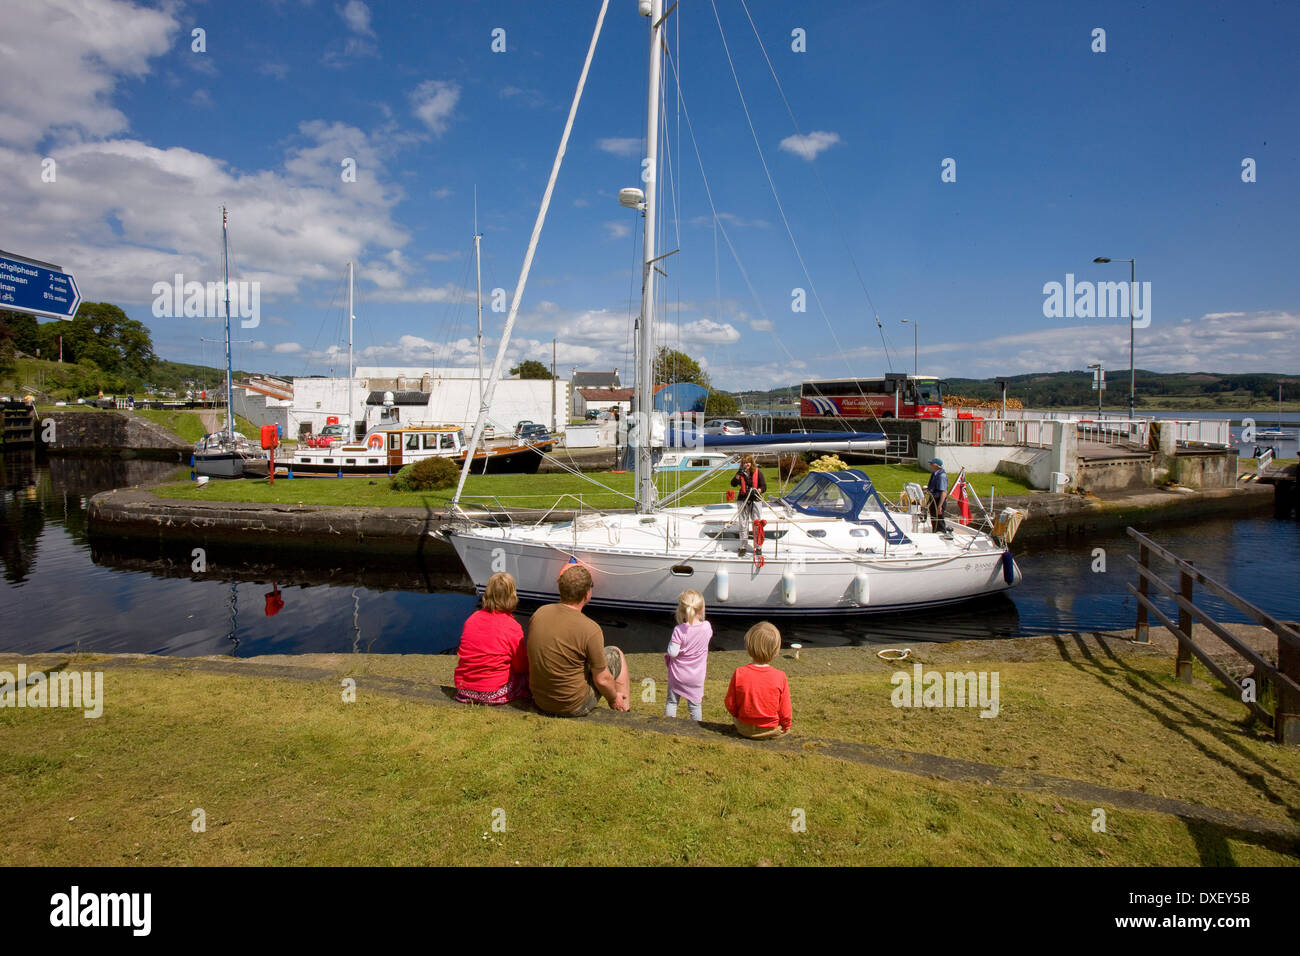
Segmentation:
<svg viewBox="0 0 1300 956">
<path fill-rule="evenodd" d="M 646 722 L 555 721 L 368 689 L 382 678 L 450 683 L 455 661 L 439 656 L 252 662 L 320 669 L 306 680 L 186 662 L 112 667 L 99 719 L 0 710 L 0 826 L 10 834 L 0 862 L 1297 862 L 1300 849 L 1277 840 L 1145 810 L 1102 805 L 1106 830 L 1096 832 L 1095 801 L 836 760 L 815 740 L 833 734 L 952 753 L 1295 821 L 1296 748 L 1244 732 L 1231 701 L 1209 685 L 1173 685 L 1169 659 L 927 649 L 927 667 L 968 662 L 1000 672 L 1001 711 L 984 719 L 970 709 L 892 708 L 888 674 L 898 665 L 864 648 L 809 650 L 800 661 L 788 653 L 779 663 L 805 741 L 796 752 L 720 732 L 680 736 Z M 64 670 L 95 666 L 90 657 L 47 659 Z M 0 657 L 0 667 L 14 661 Z M 723 719 L 725 675 L 740 662 L 736 653 L 710 657 L 706 722 Z M 659 682 L 658 700 L 638 691 L 633 710 L 662 713 L 663 657 L 632 656 L 629 666 L 638 687 L 644 676 Z M 360 688 L 351 704 L 341 697 L 346 675 Z M 192 830 L 195 809 L 205 832 Z M 803 831 L 792 827 L 800 818 Z M 494 819 L 504 819 L 503 831 Z"/>
</svg>

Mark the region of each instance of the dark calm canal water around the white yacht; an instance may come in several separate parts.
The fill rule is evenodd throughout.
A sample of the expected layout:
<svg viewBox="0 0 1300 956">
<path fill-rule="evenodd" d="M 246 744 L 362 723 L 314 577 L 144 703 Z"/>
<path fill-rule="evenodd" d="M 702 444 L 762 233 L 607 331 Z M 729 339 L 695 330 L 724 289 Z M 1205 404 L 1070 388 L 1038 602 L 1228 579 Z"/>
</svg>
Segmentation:
<svg viewBox="0 0 1300 956">
<path fill-rule="evenodd" d="M 174 464 L 0 458 L 0 650 L 269 654 L 303 652 L 439 653 L 452 650 L 476 606 L 450 551 L 424 563 L 364 566 L 352 555 L 276 564 L 244 551 L 208 550 L 191 568 L 191 544 L 122 546 L 87 537 L 86 502 L 108 488 L 160 477 Z M 1154 538 L 1283 619 L 1300 618 L 1300 523 L 1245 520 L 1162 524 Z M 1092 571 L 1104 549 L 1106 571 Z M 783 624 L 805 645 L 961 640 L 1131 627 L 1134 580 L 1123 535 L 1083 541 L 1026 541 L 1017 548 L 1024 583 L 958 610 L 838 623 Z M 1214 602 L 1223 619 L 1240 615 Z M 659 650 L 672 623 L 593 610 L 606 640 Z M 744 646 L 749 620 L 716 618 L 716 646 Z"/>
</svg>

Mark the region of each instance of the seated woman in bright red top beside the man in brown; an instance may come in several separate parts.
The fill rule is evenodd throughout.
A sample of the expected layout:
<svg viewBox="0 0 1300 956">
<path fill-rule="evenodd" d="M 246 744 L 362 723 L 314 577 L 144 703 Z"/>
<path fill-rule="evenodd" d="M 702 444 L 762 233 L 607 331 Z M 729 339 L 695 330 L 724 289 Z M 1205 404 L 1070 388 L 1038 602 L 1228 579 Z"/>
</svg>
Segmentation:
<svg viewBox="0 0 1300 956">
<path fill-rule="evenodd" d="M 464 704 L 508 704 L 528 697 L 528 648 L 514 618 L 519 606 L 515 579 L 494 574 L 484 588 L 484 607 L 460 632 L 456 654 L 456 700 Z"/>
</svg>

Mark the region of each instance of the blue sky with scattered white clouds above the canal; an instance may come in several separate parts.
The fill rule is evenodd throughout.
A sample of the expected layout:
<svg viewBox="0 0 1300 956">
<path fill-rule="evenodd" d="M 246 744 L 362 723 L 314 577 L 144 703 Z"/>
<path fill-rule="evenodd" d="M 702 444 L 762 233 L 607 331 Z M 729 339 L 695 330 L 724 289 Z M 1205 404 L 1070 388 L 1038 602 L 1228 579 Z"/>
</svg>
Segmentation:
<svg viewBox="0 0 1300 956">
<path fill-rule="evenodd" d="M 0 103 L 0 247 L 65 265 L 87 299 L 147 323 L 160 355 L 220 364 L 202 342 L 220 324 L 155 315 L 152 287 L 220 277 L 226 204 L 233 277 L 261 293 L 237 364 L 346 368 L 348 259 L 359 364 L 472 364 L 474 187 L 485 289 L 512 291 L 598 8 L 46 0 L 0 39 L 3 86 L 22 91 Z M 1136 258 L 1150 282 L 1140 367 L 1300 365 L 1296 5 L 682 0 L 670 42 L 696 140 L 670 82 L 662 241 L 681 252 L 660 339 L 718 384 L 910 369 L 904 317 L 923 372 L 1126 367 L 1123 316 L 1044 316 L 1044 284 L 1127 278 L 1097 255 Z M 616 194 L 638 183 L 645 57 L 646 21 L 615 0 L 515 360 L 549 363 L 555 337 L 564 371 L 630 369 L 640 220 Z M 502 320 L 486 312 L 491 349 Z"/>
</svg>

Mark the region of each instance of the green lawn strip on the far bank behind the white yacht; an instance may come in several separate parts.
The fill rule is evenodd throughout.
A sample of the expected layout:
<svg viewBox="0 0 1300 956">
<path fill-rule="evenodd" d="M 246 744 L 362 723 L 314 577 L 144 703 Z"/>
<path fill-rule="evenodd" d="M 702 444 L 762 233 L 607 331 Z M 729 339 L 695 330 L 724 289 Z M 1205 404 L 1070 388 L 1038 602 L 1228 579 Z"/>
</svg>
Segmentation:
<svg viewBox="0 0 1300 956">
<path fill-rule="evenodd" d="M 763 468 L 767 477 L 768 494 L 775 497 L 780 493 L 780 480 L 776 468 Z M 884 464 L 868 466 L 867 473 L 876 481 L 880 493 L 890 499 L 897 499 L 906 481 L 919 481 L 924 484 L 927 471 L 916 466 Z M 467 505 L 495 503 L 506 507 L 550 507 L 562 496 L 572 496 L 562 502 L 562 507 L 577 505 L 581 496 L 584 507 L 629 507 L 630 501 L 620 497 L 632 493 L 632 475 L 614 472 L 594 472 L 593 479 L 614 489 L 603 490 L 597 485 L 576 475 L 471 475 L 465 483 L 463 499 Z M 1005 475 L 971 475 L 971 484 L 980 497 L 988 502 L 989 486 L 997 489 L 998 497 L 1006 494 L 1024 494 L 1028 488 Z M 686 498 L 690 505 L 706 505 L 725 499 L 731 490 L 732 472 L 727 471 L 714 476 L 703 488 L 693 492 Z M 667 493 L 677 486 L 676 476 L 660 476 L 659 486 L 662 493 Z M 195 488 L 190 481 L 173 485 L 162 485 L 153 489 L 162 498 L 212 498 L 216 501 L 251 501 L 280 505 L 358 505 L 358 506 L 410 506 L 410 507 L 442 507 L 450 498 L 454 489 L 439 492 L 393 492 L 389 489 L 389 480 L 381 479 L 277 479 L 274 485 L 265 480 L 250 481 L 224 481 L 209 483 L 204 488 Z"/>
</svg>

